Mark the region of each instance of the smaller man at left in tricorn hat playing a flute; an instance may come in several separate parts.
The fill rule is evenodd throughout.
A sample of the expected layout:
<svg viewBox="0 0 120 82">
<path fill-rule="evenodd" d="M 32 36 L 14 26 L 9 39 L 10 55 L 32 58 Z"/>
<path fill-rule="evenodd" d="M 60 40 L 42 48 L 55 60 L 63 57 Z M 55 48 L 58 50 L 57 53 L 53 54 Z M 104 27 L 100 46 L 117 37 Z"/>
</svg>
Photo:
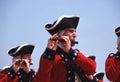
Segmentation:
<svg viewBox="0 0 120 82">
<path fill-rule="evenodd" d="M 23 44 L 8 51 L 13 57 L 12 66 L 5 67 L 0 72 L 0 82 L 31 82 L 35 77 L 35 72 L 30 68 L 31 54 L 34 45 Z"/>
</svg>

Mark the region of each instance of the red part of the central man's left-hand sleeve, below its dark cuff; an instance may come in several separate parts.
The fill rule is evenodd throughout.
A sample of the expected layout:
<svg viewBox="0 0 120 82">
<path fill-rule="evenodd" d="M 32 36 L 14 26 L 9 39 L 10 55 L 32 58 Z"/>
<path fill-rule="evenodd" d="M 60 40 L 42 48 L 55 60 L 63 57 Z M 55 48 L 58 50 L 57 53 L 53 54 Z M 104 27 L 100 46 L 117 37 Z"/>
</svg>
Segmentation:
<svg viewBox="0 0 120 82">
<path fill-rule="evenodd" d="M 53 67 L 53 61 L 44 58 L 43 56 L 40 59 L 40 67 L 36 73 L 36 77 L 32 82 L 51 82 L 51 70 Z"/>
</svg>

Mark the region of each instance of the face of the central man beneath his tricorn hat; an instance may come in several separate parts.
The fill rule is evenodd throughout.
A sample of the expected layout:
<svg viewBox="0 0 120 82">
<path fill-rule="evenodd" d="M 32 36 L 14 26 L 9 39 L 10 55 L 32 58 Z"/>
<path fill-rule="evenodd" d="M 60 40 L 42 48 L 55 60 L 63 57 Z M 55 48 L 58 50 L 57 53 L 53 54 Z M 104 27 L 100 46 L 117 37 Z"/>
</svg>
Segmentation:
<svg viewBox="0 0 120 82">
<path fill-rule="evenodd" d="M 66 28 L 63 33 L 64 36 L 68 36 L 71 41 L 75 41 L 75 38 L 77 36 L 76 29 L 74 28 Z M 71 46 L 74 46 L 75 44 L 71 44 Z"/>
</svg>

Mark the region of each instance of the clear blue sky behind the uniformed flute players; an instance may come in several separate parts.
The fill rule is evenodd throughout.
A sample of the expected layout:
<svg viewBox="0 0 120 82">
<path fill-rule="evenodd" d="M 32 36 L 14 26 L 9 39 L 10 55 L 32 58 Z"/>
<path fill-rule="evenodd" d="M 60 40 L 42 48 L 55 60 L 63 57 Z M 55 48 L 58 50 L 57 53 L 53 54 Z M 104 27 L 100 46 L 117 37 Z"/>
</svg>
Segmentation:
<svg viewBox="0 0 120 82">
<path fill-rule="evenodd" d="M 24 43 L 35 45 L 33 68 L 38 69 L 50 34 L 46 23 L 62 15 L 80 15 L 78 48 L 86 56 L 95 55 L 97 71 L 104 72 L 109 53 L 115 53 L 114 29 L 120 26 L 120 0 L 0 0 L 0 68 L 11 65 L 7 51 Z M 108 82 L 106 77 L 104 81 Z"/>
</svg>

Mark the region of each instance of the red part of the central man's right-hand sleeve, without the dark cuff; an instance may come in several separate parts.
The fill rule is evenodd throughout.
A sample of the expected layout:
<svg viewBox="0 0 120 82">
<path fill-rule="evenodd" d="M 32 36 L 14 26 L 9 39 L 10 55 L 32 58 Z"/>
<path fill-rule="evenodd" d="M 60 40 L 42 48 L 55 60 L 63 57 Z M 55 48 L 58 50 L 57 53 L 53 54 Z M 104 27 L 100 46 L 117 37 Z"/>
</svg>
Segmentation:
<svg viewBox="0 0 120 82">
<path fill-rule="evenodd" d="M 77 53 L 75 63 L 82 69 L 87 75 L 93 75 L 96 71 L 96 62 L 81 52 Z"/>
</svg>

